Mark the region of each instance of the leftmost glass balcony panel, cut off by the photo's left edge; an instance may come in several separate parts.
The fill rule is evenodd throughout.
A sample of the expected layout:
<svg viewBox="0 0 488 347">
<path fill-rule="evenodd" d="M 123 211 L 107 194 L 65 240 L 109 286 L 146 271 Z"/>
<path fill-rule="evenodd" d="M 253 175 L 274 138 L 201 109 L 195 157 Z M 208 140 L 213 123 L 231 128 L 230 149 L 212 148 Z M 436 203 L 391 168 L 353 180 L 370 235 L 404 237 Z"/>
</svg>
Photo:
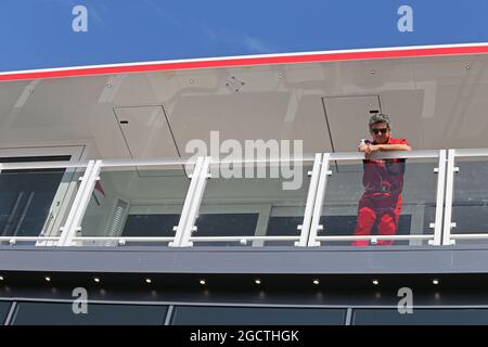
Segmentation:
<svg viewBox="0 0 488 347">
<path fill-rule="evenodd" d="M 84 168 L 2 170 L 1 243 L 13 244 L 15 240 L 15 245 L 54 245 L 55 240 L 22 237 L 60 236 L 84 171 Z"/>
</svg>

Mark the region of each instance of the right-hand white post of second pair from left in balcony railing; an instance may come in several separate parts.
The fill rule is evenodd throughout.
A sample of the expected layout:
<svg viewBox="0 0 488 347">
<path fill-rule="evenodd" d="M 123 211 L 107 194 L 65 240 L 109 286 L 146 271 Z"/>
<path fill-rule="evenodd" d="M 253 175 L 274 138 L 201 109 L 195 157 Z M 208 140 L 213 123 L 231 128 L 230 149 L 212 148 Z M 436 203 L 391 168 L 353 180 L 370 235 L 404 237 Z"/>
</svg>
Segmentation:
<svg viewBox="0 0 488 347">
<path fill-rule="evenodd" d="M 190 242 L 190 237 L 192 233 L 196 231 L 195 221 L 198 215 L 200 205 L 202 203 L 203 194 L 205 192 L 205 187 L 207 184 L 207 180 L 210 178 L 210 160 L 211 157 L 206 156 L 202 164 L 202 170 L 198 175 L 198 180 L 195 189 L 195 193 L 191 201 L 190 210 L 188 214 L 187 224 L 184 226 L 182 237 L 181 237 L 181 247 L 191 247 L 193 243 Z"/>
</svg>

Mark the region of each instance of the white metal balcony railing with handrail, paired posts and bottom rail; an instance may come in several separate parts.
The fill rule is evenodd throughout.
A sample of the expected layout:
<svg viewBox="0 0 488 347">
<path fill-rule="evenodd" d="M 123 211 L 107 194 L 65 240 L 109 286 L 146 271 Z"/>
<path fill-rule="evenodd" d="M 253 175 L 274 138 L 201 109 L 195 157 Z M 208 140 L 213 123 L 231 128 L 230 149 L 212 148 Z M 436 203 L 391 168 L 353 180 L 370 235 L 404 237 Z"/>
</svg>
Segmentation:
<svg viewBox="0 0 488 347">
<path fill-rule="evenodd" d="M 236 243 L 237 245 L 262 245 L 266 243 L 283 243 L 287 242 L 298 247 L 313 247 L 335 242 L 350 242 L 350 241 L 369 241 L 375 244 L 382 240 L 391 241 L 409 241 L 415 242 L 425 241 L 431 245 L 451 245 L 457 240 L 472 240 L 472 239 L 488 239 L 488 232 L 453 232 L 457 227 L 455 221 L 452 220 L 452 207 L 455 191 L 455 174 L 459 172 L 459 167 L 455 166 L 458 158 L 475 157 L 488 158 L 488 150 L 449 150 L 448 155 L 446 150 L 439 151 L 411 151 L 411 152 L 382 152 L 375 153 L 373 159 L 413 159 L 413 160 L 429 160 L 435 164 L 432 170 L 436 175 L 435 187 L 429 187 L 435 190 L 432 208 L 435 209 L 433 220 L 426 220 L 427 226 L 432 229 L 432 233 L 424 233 L 424 230 L 418 230 L 416 233 L 410 234 L 395 234 L 395 235 L 338 235 L 328 230 L 328 227 L 321 223 L 324 209 L 328 208 L 326 202 L 329 198 L 328 187 L 331 185 L 331 179 L 338 174 L 338 168 L 343 163 L 355 162 L 361 163 L 364 159 L 362 153 L 318 153 L 305 158 L 260 158 L 260 159 L 214 159 L 210 157 L 194 157 L 194 158 L 160 158 L 160 159 L 103 159 L 89 160 L 80 163 L 22 163 L 22 164 L 1 164 L 0 170 L 8 172 L 9 170 L 42 170 L 42 169 L 65 169 L 65 172 L 78 172 L 82 170 L 82 177 L 79 181 L 73 181 L 69 188 L 65 188 L 66 202 L 69 208 L 57 210 L 57 220 L 63 220 L 63 224 L 59 230 L 51 229 L 49 233 L 43 233 L 39 236 L 0 236 L 0 242 L 8 242 L 11 245 L 17 242 L 28 241 L 36 242 L 37 246 L 84 246 L 92 245 L 100 242 L 101 245 L 107 246 L 123 246 L 130 243 L 165 243 L 171 247 L 189 247 L 194 243 Z M 294 163 L 303 165 L 307 163 L 310 167 L 308 170 L 308 189 L 304 191 L 305 205 L 303 213 L 296 216 L 301 220 L 297 226 L 297 233 L 294 235 L 198 235 L 197 218 L 201 214 L 203 201 L 207 190 L 207 183 L 213 180 L 211 167 L 222 164 L 283 164 Z M 410 162 L 409 162 L 410 163 Z M 355 164 L 355 165 L 356 165 Z M 188 180 L 188 189 L 184 196 L 178 200 L 175 205 L 178 207 L 177 215 L 179 220 L 174 226 L 172 235 L 165 236 L 125 236 L 121 234 L 110 235 L 100 234 L 91 235 L 85 233 L 87 230 L 82 228 L 84 218 L 86 218 L 87 208 L 89 207 L 92 194 L 97 190 L 98 182 L 101 180 L 103 170 L 124 170 L 130 168 L 133 175 L 144 174 L 144 170 L 157 170 L 163 168 L 165 170 L 170 167 L 179 167 L 181 172 L 184 172 L 184 179 Z M 333 170 L 335 168 L 335 171 Z M 183 168 L 181 170 L 181 168 Z M 141 174 L 142 172 L 142 174 Z M 149 172 L 149 171 L 147 171 Z M 362 174 L 356 172 L 357 177 Z M 422 183 L 423 177 L 416 178 L 419 183 Z M 146 180 L 151 180 L 149 176 Z M 75 187 L 75 188 L 73 188 Z M 127 198 L 130 200 L 130 196 Z M 165 204 L 165 196 L 157 204 Z M 149 204 L 149 203 L 146 203 Z M 224 204 L 224 203 L 222 203 Z M 54 206 L 54 205 L 53 205 Z M 324 207 L 325 206 L 325 207 Z M 357 206 L 357 202 L 356 202 Z M 348 207 L 350 208 L 350 206 Z M 61 217 L 60 215 L 64 216 Z M 125 217 L 129 215 L 128 209 L 125 210 Z M 269 218 L 270 215 L 268 215 Z M 106 216 L 105 216 L 106 217 Z M 425 219 L 425 218 L 424 218 Z M 125 220 L 125 219 L 124 219 Z M 425 220 L 424 220 L 425 221 Z M 47 224 L 49 222 L 47 221 Z M 333 230 L 332 230 L 333 231 Z M 419 233 L 422 231 L 422 233 Z M 99 244 L 99 245 L 100 245 Z"/>
</svg>

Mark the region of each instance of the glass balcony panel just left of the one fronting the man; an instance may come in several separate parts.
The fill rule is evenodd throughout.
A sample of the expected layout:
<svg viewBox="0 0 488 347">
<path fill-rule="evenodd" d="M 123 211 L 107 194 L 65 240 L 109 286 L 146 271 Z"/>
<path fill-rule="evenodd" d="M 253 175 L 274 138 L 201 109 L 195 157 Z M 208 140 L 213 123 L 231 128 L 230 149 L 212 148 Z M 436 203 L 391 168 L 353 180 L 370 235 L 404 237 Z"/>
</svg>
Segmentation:
<svg viewBox="0 0 488 347">
<path fill-rule="evenodd" d="M 299 240 L 313 162 L 211 164 L 193 246 L 293 246 Z M 282 218 L 278 220 L 277 218 Z M 233 237 L 200 241 L 197 237 Z M 290 236 L 291 240 L 245 237 Z"/>
</svg>

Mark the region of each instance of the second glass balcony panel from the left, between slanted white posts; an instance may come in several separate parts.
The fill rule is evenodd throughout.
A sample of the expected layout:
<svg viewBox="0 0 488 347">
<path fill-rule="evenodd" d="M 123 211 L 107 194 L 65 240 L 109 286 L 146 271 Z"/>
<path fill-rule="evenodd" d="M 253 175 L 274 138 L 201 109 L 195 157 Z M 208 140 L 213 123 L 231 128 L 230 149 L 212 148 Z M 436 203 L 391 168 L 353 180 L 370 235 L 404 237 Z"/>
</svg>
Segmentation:
<svg viewBox="0 0 488 347">
<path fill-rule="evenodd" d="M 167 246 L 170 240 L 149 237 L 175 236 L 191 172 L 193 167 L 172 165 L 102 168 L 78 233 L 93 240 L 77 244 Z"/>
</svg>

